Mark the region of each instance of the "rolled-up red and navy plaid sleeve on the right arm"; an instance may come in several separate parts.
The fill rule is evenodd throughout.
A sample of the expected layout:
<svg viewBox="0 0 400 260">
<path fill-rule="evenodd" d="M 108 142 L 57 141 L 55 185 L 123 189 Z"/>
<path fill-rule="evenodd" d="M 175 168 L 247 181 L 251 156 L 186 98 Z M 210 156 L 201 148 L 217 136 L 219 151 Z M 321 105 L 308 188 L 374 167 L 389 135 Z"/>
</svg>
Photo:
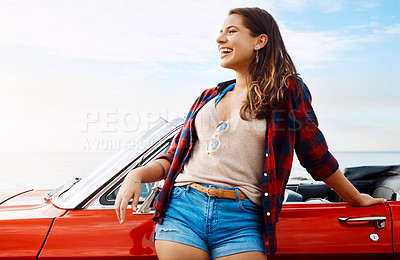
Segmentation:
<svg viewBox="0 0 400 260">
<path fill-rule="evenodd" d="M 329 152 L 325 137 L 318 128 L 318 120 L 311 106 L 311 93 L 300 82 L 294 87 L 292 107 L 295 117 L 295 151 L 300 164 L 317 181 L 324 180 L 339 168 Z"/>
</svg>

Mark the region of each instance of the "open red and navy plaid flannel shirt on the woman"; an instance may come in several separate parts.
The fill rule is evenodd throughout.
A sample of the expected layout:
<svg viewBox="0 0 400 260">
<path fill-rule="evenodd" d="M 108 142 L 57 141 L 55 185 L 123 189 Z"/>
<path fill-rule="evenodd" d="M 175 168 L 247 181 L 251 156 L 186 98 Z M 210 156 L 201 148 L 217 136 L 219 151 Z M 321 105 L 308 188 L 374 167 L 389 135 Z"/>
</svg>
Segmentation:
<svg viewBox="0 0 400 260">
<path fill-rule="evenodd" d="M 223 82 L 215 88 L 205 90 L 192 105 L 168 153 L 157 158 L 168 160 L 171 168 L 154 203 L 154 221 L 162 221 L 175 178 L 182 171 L 196 141 L 194 119 L 197 112 L 233 82 L 235 81 Z M 261 190 L 264 232 L 269 254 L 277 250 L 276 224 L 292 168 L 293 151 L 296 151 L 301 165 L 315 180 L 324 180 L 339 168 L 338 162 L 328 151 L 322 132 L 318 129 L 318 121 L 311 107 L 310 91 L 300 79 L 291 78 L 289 82 L 288 101 L 279 105 L 266 118 L 265 163 L 260 174 L 263 174 Z"/>
</svg>

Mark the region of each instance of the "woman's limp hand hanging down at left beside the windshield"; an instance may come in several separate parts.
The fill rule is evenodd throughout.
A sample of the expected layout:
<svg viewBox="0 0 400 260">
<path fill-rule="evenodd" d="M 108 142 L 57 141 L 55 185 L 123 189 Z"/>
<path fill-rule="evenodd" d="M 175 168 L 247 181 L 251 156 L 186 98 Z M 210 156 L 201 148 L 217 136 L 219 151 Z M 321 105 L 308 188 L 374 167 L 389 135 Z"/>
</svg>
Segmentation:
<svg viewBox="0 0 400 260">
<path fill-rule="evenodd" d="M 133 199 L 132 210 L 136 211 L 141 189 L 142 185 L 138 180 L 135 181 L 129 174 L 125 177 L 115 199 L 115 212 L 120 224 L 125 222 L 126 209 L 131 198 Z"/>
</svg>

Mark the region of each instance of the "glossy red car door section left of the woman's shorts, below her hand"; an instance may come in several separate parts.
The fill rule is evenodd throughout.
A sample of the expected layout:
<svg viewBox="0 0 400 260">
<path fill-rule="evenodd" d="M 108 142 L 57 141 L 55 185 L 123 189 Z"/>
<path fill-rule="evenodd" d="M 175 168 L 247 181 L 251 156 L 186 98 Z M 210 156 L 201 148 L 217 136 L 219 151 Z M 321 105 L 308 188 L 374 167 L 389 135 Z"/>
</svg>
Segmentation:
<svg viewBox="0 0 400 260">
<path fill-rule="evenodd" d="M 127 214 L 120 225 L 113 209 L 70 210 L 54 222 L 39 259 L 157 259 L 152 214 Z"/>
</svg>

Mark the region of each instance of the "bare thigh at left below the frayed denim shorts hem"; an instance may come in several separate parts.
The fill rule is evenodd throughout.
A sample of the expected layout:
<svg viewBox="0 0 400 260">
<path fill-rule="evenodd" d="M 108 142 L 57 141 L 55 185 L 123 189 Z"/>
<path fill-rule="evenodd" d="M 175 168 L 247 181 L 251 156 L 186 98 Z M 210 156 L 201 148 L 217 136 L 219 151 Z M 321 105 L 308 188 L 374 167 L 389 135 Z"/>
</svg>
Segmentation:
<svg viewBox="0 0 400 260">
<path fill-rule="evenodd" d="M 200 248 L 167 240 L 156 240 L 156 251 L 160 260 L 209 260 L 208 253 Z M 256 260 L 256 259 L 254 259 Z"/>
</svg>

